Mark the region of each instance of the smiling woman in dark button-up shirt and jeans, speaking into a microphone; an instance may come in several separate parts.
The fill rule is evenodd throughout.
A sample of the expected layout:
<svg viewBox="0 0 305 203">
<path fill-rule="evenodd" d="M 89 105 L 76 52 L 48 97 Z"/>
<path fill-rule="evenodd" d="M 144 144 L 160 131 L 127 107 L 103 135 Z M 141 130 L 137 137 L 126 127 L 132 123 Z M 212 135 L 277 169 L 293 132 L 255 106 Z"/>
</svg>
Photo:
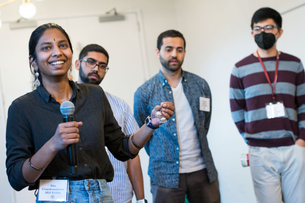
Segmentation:
<svg viewBox="0 0 305 203">
<path fill-rule="evenodd" d="M 106 182 L 113 180 L 114 172 L 105 146 L 120 161 L 134 158 L 140 149 L 129 139 L 130 135 L 121 131 L 100 86 L 68 80 L 72 53 L 69 36 L 59 25 L 39 26 L 30 37 L 31 70 L 41 85 L 9 107 L 6 127 L 9 183 L 17 191 L 27 186 L 29 190 L 38 189 L 37 203 L 89 202 L 89 199 L 112 202 Z M 103 68 L 101 63 L 99 68 Z M 60 105 L 65 101 L 74 104 L 74 118 L 86 121 L 84 124 L 62 123 Z M 173 103 L 163 102 L 152 110 L 150 125 L 143 125 L 133 134 L 137 146 L 143 147 L 153 129 L 162 124 L 155 116 L 160 110 L 169 119 L 174 114 Z M 76 144 L 78 156 L 78 173 L 73 174 L 66 152 L 70 144 Z M 62 184 L 58 179 L 69 179 L 69 183 Z M 64 187 L 66 191 L 61 193 Z"/>
</svg>

